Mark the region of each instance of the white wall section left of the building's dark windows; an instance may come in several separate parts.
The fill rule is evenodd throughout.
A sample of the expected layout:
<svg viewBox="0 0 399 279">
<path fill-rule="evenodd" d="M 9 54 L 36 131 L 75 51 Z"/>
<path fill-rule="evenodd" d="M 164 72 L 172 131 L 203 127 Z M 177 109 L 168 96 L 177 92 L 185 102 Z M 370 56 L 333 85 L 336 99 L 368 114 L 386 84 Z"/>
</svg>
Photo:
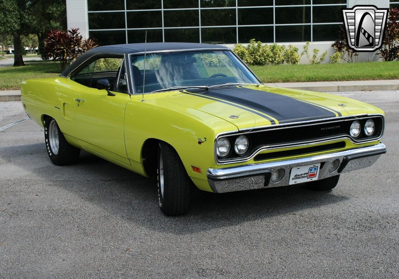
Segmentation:
<svg viewBox="0 0 399 279">
<path fill-rule="evenodd" d="M 86 0 L 66 0 L 67 4 L 67 27 L 79 28 L 84 38 L 89 37 L 89 19 L 87 16 Z"/>
</svg>

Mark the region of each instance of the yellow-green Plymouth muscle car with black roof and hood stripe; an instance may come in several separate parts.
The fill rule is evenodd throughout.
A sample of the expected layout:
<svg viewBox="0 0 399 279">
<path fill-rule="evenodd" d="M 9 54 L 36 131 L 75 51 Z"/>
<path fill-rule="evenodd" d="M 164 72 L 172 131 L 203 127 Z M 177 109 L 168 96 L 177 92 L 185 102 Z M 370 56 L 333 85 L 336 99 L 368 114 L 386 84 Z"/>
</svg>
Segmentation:
<svg viewBox="0 0 399 279">
<path fill-rule="evenodd" d="M 329 190 L 386 152 L 381 109 L 265 86 L 219 45 L 97 47 L 57 78 L 24 81 L 22 103 L 44 127 L 54 164 L 76 162 L 83 149 L 156 177 L 166 215 L 188 211 L 192 185 Z"/>
</svg>

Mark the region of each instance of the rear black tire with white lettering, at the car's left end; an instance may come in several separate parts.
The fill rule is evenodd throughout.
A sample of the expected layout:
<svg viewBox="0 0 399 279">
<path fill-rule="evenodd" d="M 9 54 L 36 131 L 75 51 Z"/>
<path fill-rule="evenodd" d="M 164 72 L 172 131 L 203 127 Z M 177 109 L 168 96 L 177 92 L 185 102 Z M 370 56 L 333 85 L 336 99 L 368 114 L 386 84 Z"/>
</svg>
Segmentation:
<svg viewBox="0 0 399 279">
<path fill-rule="evenodd" d="M 52 121 L 55 123 L 51 124 Z M 58 151 L 54 153 L 53 148 L 51 148 L 49 134 L 50 134 L 50 124 L 55 125 L 55 129 L 58 132 Z M 44 120 L 44 139 L 47 149 L 47 154 L 50 157 L 51 162 L 57 166 L 69 165 L 77 162 L 79 160 L 80 149 L 72 146 L 67 142 L 63 133 L 58 127 L 57 122 L 52 117 L 46 117 Z"/>
</svg>

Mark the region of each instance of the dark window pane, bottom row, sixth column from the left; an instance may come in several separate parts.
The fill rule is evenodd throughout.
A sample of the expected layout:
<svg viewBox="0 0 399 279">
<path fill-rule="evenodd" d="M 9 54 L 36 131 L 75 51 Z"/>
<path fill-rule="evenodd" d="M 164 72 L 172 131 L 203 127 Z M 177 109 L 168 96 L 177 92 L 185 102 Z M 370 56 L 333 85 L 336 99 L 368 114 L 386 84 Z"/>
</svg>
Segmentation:
<svg viewBox="0 0 399 279">
<path fill-rule="evenodd" d="M 310 41 L 310 25 L 276 26 L 276 42 Z"/>
</svg>

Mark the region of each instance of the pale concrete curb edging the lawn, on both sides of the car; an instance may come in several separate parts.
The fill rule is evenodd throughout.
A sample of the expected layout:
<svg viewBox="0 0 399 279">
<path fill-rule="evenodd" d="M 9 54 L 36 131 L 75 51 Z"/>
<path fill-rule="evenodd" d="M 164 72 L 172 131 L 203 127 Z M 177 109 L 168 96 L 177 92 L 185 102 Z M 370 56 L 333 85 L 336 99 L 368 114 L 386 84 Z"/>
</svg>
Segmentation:
<svg viewBox="0 0 399 279">
<path fill-rule="evenodd" d="M 399 80 L 354 80 L 333 82 L 265 83 L 270 87 L 308 90 L 315 92 L 385 91 L 399 90 Z M 21 90 L 0 90 L 0 101 L 21 101 Z"/>
</svg>

